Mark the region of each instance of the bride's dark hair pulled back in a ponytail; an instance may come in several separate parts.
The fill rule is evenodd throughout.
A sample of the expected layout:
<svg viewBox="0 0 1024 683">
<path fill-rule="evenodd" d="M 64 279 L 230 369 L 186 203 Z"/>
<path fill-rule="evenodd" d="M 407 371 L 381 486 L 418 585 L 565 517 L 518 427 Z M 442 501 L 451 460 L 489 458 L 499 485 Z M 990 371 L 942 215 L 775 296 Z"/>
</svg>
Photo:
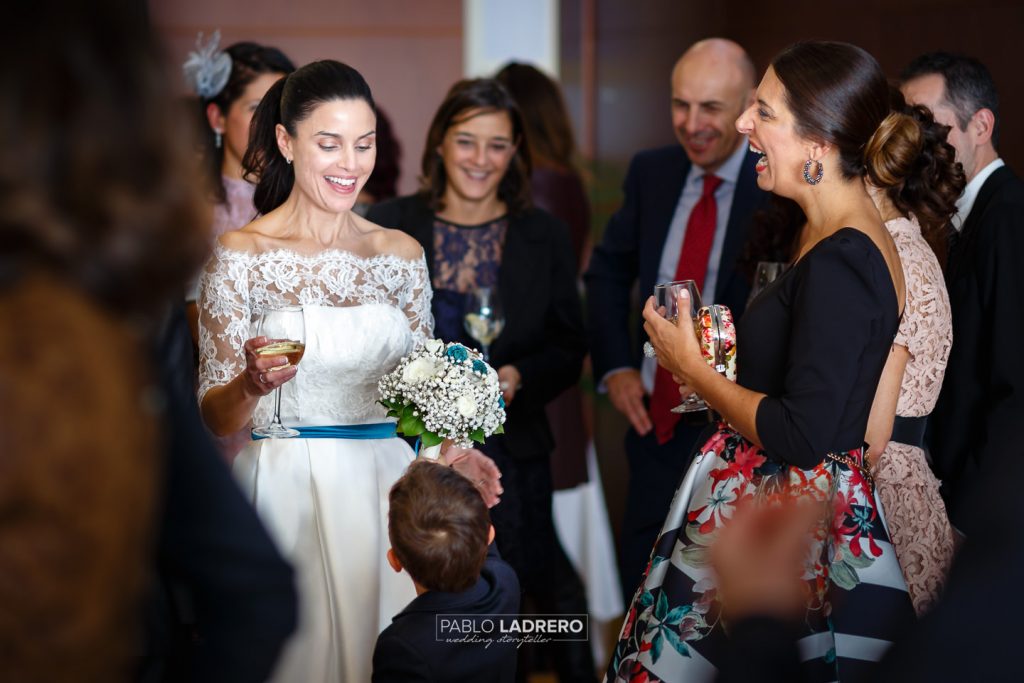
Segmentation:
<svg viewBox="0 0 1024 683">
<path fill-rule="evenodd" d="M 295 171 L 278 147 L 280 123 L 289 135 L 324 102 L 361 99 L 376 112 L 366 79 L 348 65 L 333 59 L 313 61 L 281 79 L 267 90 L 253 115 L 249 148 L 242 160 L 245 177 L 256 180 L 253 204 L 267 214 L 285 203 L 295 184 Z"/>
</svg>

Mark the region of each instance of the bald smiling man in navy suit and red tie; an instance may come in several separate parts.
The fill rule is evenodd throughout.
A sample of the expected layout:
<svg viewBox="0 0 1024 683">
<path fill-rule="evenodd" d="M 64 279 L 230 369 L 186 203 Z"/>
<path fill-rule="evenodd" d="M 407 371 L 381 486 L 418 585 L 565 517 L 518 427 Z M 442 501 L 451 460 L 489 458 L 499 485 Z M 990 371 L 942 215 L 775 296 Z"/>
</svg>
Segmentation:
<svg viewBox="0 0 1024 683">
<path fill-rule="evenodd" d="M 585 275 L 594 375 L 632 425 L 620 553 L 627 603 L 701 431 L 669 412 L 679 402 L 671 376 L 657 372 L 653 359 L 641 364 L 630 334 L 631 294 L 638 281 L 646 299 L 656 283 L 694 280 L 707 303 L 725 304 L 736 317 L 742 311 L 750 284 L 736 260 L 752 215 L 767 198 L 756 184 L 757 157 L 735 127 L 754 101 L 755 76 L 750 57 L 731 41 L 703 40 L 683 54 L 672 73 L 672 123 L 681 146 L 633 159 L 623 206 Z M 642 339 L 639 324 L 637 331 Z"/>
</svg>

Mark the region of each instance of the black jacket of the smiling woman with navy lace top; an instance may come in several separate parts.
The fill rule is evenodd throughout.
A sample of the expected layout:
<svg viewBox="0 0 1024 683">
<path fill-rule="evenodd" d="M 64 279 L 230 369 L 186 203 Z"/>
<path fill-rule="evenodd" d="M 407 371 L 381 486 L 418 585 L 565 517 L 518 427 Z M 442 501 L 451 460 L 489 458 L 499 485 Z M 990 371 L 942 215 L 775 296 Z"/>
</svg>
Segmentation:
<svg viewBox="0 0 1024 683">
<path fill-rule="evenodd" d="M 368 218 L 416 238 L 433 273 L 434 213 L 421 196 L 374 205 Z M 490 365 L 513 365 L 522 375 L 522 388 L 509 405 L 505 446 L 515 458 L 547 456 L 554 440 L 544 407 L 580 379 L 587 352 L 564 223 L 540 209 L 511 217 L 498 293 L 505 329 L 490 347 Z"/>
</svg>

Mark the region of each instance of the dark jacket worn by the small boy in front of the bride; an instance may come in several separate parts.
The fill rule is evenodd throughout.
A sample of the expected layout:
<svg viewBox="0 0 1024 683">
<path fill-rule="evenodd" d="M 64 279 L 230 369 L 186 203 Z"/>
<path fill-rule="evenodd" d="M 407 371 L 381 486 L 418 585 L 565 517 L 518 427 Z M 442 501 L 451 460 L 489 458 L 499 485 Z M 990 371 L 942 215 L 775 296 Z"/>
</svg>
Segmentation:
<svg viewBox="0 0 1024 683">
<path fill-rule="evenodd" d="M 374 683 L 515 680 L 514 643 L 450 643 L 436 636 L 438 614 L 518 614 L 519 582 L 495 544 L 476 586 L 462 593 L 428 591 L 409 603 L 377 638 Z"/>
</svg>

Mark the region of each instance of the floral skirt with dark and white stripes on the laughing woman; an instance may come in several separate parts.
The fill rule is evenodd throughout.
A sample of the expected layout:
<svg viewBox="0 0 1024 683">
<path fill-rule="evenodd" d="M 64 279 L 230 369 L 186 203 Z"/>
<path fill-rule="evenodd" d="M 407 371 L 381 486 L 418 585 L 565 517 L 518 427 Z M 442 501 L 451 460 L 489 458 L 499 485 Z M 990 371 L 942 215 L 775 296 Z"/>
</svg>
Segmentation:
<svg viewBox="0 0 1024 683">
<path fill-rule="evenodd" d="M 676 492 L 644 579 L 627 612 L 608 681 L 691 683 L 715 679 L 728 625 L 716 596 L 709 548 L 746 500 L 809 498 L 822 521 L 805 560 L 808 681 L 869 681 L 892 640 L 914 620 L 882 507 L 862 452 L 801 470 L 769 459 L 720 424 Z"/>
</svg>

